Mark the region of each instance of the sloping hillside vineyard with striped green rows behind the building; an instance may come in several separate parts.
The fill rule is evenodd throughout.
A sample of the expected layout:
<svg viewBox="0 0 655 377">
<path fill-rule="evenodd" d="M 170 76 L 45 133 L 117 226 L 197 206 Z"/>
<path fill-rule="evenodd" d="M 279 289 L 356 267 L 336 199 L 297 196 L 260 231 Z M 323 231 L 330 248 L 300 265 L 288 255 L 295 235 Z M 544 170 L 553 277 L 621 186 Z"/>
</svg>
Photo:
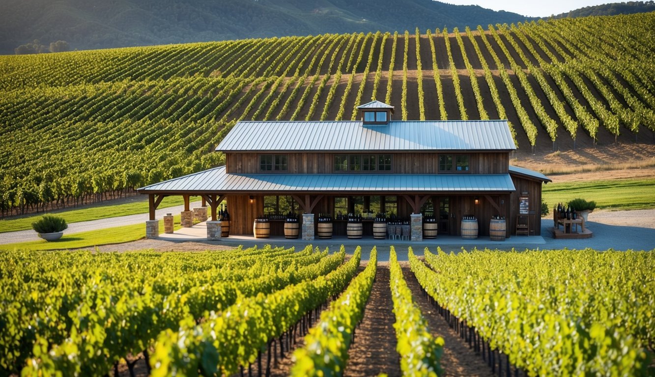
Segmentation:
<svg viewBox="0 0 655 377">
<path fill-rule="evenodd" d="M 647 13 L 1 56 L 0 207 L 212 168 L 237 120 L 354 120 L 369 99 L 403 120 L 506 118 L 524 150 L 650 140 L 654 25 Z"/>
</svg>

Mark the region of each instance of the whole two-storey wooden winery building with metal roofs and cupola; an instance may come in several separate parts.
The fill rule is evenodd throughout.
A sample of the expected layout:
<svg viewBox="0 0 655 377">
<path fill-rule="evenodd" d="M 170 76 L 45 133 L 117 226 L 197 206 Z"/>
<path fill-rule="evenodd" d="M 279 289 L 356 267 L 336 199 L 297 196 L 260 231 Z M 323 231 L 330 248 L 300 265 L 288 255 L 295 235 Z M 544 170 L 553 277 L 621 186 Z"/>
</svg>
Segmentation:
<svg viewBox="0 0 655 377">
<path fill-rule="evenodd" d="M 361 219 L 364 238 L 380 214 L 411 224 L 411 240 L 422 239 L 422 223 L 459 236 L 462 219 L 476 219 L 480 237 L 498 218 L 506 236 L 540 235 L 541 187 L 550 179 L 510 166 L 516 147 L 506 120 L 392 120 L 394 107 L 379 101 L 358 109 L 357 121 L 238 122 L 216 148 L 225 166 L 139 188 L 150 198 L 147 236 L 159 234 L 155 209 L 172 195 L 184 196 L 187 213 L 189 196 L 210 206 L 210 239 L 219 237 L 223 200 L 230 234 L 252 235 L 267 217 L 271 235 L 282 235 L 293 212 L 306 240 L 319 214 L 335 238 L 346 236 L 348 214 Z"/>
</svg>

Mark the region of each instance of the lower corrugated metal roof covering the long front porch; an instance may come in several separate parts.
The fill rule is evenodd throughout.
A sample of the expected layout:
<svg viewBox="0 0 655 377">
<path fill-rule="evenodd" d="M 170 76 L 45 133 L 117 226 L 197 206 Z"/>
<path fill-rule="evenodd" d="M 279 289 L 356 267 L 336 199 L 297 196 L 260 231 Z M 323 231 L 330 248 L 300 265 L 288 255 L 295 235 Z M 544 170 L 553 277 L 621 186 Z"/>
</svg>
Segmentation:
<svg viewBox="0 0 655 377">
<path fill-rule="evenodd" d="M 231 174 L 225 166 L 139 188 L 152 193 L 511 192 L 509 174 Z"/>
</svg>

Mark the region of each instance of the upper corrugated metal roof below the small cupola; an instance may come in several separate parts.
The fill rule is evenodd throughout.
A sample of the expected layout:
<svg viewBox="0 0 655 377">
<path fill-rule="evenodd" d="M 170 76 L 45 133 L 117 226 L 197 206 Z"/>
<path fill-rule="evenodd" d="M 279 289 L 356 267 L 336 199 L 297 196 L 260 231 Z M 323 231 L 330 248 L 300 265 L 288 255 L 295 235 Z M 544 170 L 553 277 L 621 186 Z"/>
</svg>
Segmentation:
<svg viewBox="0 0 655 377">
<path fill-rule="evenodd" d="M 507 120 L 242 121 L 216 151 L 510 151 Z"/>
</svg>

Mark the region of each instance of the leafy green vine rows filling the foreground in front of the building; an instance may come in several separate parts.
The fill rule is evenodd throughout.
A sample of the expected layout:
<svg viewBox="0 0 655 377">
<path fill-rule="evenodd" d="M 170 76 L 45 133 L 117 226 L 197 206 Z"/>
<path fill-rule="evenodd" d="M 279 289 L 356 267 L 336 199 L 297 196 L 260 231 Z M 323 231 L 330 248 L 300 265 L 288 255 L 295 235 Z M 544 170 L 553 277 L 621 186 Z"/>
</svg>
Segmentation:
<svg viewBox="0 0 655 377">
<path fill-rule="evenodd" d="M 349 358 L 362 361 L 348 349 L 378 346 L 362 344 L 370 325 L 358 338 L 358 323 L 381 315 L 369 312 L 377 308 L 395 322 L 378 330 L 391 336 L 383 353 L 398 351 L 379 365 L 391 374 L 489 374 L 491 365 L 530 376 L 654 372 L 654 251 L 425 249 L 417 257 L 410 248 L 411 271 L 394 247 L 388 263 L 377 263 L 375 247 L 370 255 L 360 266 L 359 247 L 352 255 L 312 247 L 3 252 L 0 367 L 28 376 L 134 368 L 360 375 L 348 369 Z M 376 285 L 377 274 L 388 278 Z M 444 321 L 435 334 L 430 324 Z"/>
</svg>

